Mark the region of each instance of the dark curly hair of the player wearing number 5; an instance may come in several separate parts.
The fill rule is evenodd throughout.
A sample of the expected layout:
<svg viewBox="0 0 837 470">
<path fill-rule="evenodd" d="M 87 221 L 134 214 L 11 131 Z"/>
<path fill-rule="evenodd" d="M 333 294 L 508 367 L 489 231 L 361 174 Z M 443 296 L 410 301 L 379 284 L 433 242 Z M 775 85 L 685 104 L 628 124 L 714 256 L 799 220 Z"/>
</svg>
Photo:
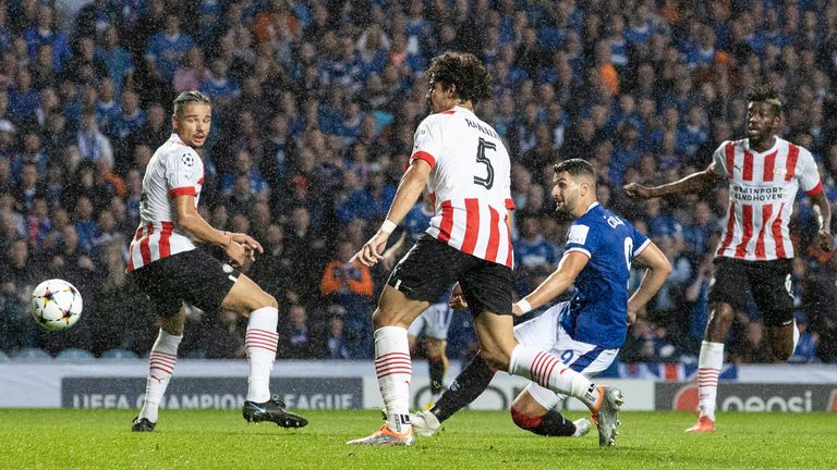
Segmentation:
<svg viewBox="0 0 837 470">
<path fill-rule="evenodd" d="M 488 72 L 471 53 L 444 52 L 433 58 L 427 74 L 433 83 L 445 87 L 456 85 L 459 99 L 476 104 L 489 95 Z"/>
</svg>

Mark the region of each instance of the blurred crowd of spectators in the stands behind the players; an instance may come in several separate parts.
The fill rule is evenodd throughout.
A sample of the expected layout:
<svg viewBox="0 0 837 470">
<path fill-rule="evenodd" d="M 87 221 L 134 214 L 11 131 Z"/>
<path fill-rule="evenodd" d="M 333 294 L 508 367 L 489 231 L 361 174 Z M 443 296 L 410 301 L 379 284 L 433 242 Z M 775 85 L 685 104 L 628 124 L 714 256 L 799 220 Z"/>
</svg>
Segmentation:
<svg viewBox="0 0 837 470">
<path fill-rule="evenodd" d="M 568 221 L 551 165 L 589 159 L 599 200 L 630 218 L 674 271 L 630 329 L 622 361 L 694 360 L 727 188 L 636 202 L 629 182 L 705 168 L 745 136 L 745 92 L 775 86 L 783 136 L 816 157 L 837 201 L 837 1 L 815 0 L 0 0 L 0 350 L 147 354 L 154 314 L 126 280 L 143 172 L 170 135 L 175 94 L 213 97 L 199 210 L 252 234 L 245 272 L 280 302 L 281 358 L 368 358 L 373 298 L 387 270 L 350 262 L 386 214 L 426 114 L 429 59 L 473 52 L 493 77 L 477 114 L 512 156 L 519 294 L 561 256 Z M 837 360 L 837 259 L 810 244 L 801 195 L 792 292 L 802 339 L 791 360 Z M 408 224 L 409 225 L 409 224 Z M 410 230 L 410 228 L 408 228 Z M 411 233 L 410 235 L 414 235 Z M 73 329 L 27 312 L 39 282 L 84 295 Z M 457 321 L 465 322 L 466 316 Z M 453 327 L 452 358 L 469 352 Z M 728 359 L 764 362 L 755 308 Z M 460 337 L 461 336 L 461 337 Z M 463 339 L 464 338 L 464 339 Z M 244 324 L 189 314 L 185 357 L 244 355 Z"/>
</svg>

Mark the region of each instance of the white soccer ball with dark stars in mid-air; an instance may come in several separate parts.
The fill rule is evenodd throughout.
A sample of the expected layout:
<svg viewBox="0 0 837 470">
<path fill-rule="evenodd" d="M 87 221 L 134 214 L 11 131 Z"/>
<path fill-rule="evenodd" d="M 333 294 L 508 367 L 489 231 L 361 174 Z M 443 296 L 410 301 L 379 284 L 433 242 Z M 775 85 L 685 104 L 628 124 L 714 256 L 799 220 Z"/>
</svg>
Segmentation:
<svg viewBox="0 0 837 470">
<path fill-rule="evenodd" d="M 47 330 L 66 330 L 82 316 L 82 295 L 64 280 L 38 284 L 29 300 L 32 316 Z"/>
</svg>

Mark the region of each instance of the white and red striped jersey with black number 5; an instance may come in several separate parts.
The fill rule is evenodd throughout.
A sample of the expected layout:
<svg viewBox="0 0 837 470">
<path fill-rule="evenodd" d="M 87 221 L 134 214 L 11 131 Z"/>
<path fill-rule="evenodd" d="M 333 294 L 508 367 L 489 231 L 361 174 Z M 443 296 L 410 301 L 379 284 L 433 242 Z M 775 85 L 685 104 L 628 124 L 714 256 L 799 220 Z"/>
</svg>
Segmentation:
<svg viewBox="0 0 837 470">
<path fill-rule="evenodd" d="M 427 189 L 434 215 L 427 233 L 477 258 L 513 268 L 506 221 L 511 162 L 497 132 L 465 108 L 430 114 L 415 132 L 413 160 L 433 166 Z"/>
</svg>

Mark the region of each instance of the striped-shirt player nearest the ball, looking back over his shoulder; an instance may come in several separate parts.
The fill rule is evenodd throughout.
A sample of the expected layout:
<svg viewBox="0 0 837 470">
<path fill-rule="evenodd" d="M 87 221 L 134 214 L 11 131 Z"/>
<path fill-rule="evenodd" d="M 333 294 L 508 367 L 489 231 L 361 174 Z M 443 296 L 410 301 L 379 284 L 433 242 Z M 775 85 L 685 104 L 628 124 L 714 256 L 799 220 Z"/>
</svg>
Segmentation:
<svg viewBox="0 0 837 470">
<path fill-rule="evenodd" d="M 262 245 L 246 234 L 213 227 L 197 212 L 204 163 L 195 149 L 203 147 L 211 128 L 209 98 L 199 91 L 184 91 L 173 104 L 173 133 L 145 169 L 141 223 L 129 250 L 128 273 L 155 310 L 160 325 L 149 354 L 143 408 L 131 430 L 149 432 L 156 426 L 160 404 L 174 373 L 186 306 L 209 313 L 226 310 L 247 318 L 245 349 L 250 370 L 244 419 L 272 421 L 283 428 L 304 426 L 304 418 L 286 410 L 270 395 L 270 371 L 279 336 L 278 304 L 230 264 L 255 260 L 254 252 L 262 252 Z M 218 246 L 230 263 L 195 249 L 195 243 Z"/>
</svg>

